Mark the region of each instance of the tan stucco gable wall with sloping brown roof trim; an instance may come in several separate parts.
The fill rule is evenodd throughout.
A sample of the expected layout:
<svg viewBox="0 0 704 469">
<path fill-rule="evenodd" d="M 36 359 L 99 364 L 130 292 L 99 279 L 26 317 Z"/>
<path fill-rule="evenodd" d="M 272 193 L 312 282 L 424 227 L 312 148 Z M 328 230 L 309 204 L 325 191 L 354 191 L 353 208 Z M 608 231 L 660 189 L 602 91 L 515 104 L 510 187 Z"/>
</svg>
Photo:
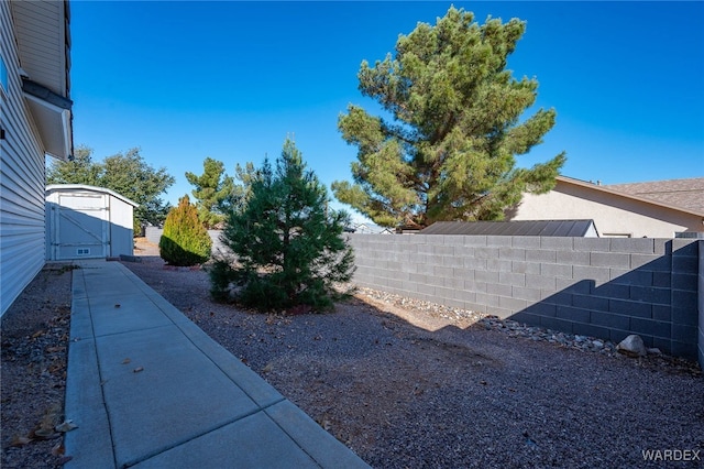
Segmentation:
<svg viewBox="0 0 704 469">
<path fill-rule="evenodd" d="M 593 187 L 592 187 L 593 186 Z M 593 219 L 600 236 L 674 238 L 704 231 L 701 214 L 618 195 L 602 186 L 560 177 L 548 194 L 526 194 L 512 220 Z"/>
</svg>

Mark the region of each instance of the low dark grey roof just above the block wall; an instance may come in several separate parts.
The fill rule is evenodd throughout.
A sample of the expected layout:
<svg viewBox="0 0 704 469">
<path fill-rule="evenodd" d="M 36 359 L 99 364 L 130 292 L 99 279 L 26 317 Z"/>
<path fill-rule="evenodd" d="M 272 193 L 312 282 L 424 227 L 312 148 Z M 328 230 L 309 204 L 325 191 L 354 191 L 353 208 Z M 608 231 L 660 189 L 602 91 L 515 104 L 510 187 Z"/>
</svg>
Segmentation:
<svg viewBox="0 0 704 469">
<path fill-rule="evenodd" d="M 436 221 L 419 234 L 584 237 L 594 220 Z"/>
</svg>

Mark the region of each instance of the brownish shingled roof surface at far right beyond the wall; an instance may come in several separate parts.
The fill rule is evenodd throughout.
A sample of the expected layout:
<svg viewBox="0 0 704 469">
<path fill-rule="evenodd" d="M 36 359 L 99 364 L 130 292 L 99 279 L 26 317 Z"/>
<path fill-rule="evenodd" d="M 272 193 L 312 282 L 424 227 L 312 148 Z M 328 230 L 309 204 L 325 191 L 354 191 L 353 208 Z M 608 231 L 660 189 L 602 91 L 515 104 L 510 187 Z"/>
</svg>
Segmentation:
<svg viewBox="0 0 704 469">
<path fill-rule="evenodd" d="M 704 177 L 654 181 L 650 183 L 609 184 L 606 187 L 675 207 L 704 212 Z"/>
</svg>

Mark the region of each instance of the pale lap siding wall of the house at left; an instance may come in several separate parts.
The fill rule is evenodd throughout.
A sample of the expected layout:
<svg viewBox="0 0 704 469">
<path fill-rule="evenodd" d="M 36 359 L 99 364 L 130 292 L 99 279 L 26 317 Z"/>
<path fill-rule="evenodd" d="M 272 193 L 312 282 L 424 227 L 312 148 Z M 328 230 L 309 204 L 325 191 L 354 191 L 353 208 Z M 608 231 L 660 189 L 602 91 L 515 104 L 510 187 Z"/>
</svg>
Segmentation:
<svg viewBox="0 0 704 469">
<path fill-rule="evenodd" d="M 0 96 L 0 315 L 45 260 L 44 149 L 30 118 L 19 74 L 10 2 L 0 2 L 0 55 L 8 89 Z"/>
</svg>

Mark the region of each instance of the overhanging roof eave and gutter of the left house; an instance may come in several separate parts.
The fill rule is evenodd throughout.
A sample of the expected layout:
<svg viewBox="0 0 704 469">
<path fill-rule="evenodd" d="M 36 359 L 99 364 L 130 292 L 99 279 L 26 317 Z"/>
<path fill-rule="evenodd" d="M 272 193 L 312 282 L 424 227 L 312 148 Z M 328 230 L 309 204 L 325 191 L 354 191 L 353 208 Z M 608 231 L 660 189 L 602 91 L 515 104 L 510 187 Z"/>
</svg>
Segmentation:
<svg viewBox="0 0 704 469">
<path fill-rule="evenodd" d="M 68 1 L 10 2 L 24 97 L 44 151 L 73 155 Z"/>
</svg>

